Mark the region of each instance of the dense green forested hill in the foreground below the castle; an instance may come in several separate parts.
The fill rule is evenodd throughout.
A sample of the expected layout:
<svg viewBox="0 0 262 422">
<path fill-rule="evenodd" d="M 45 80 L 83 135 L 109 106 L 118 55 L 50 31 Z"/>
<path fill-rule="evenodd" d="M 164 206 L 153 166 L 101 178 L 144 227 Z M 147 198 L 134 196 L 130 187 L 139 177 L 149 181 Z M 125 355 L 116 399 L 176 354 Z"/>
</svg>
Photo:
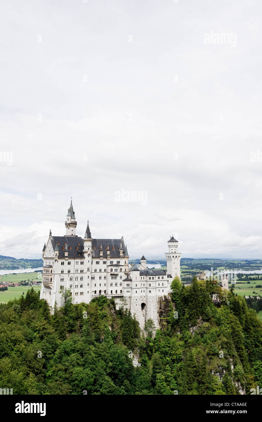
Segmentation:
<svg viewBox="0 0 262 422">
<path fill-rule="evenodd" d="M 77 395 L 250 394 L 261 386 L 262 324 L 251 303 L 213 281 L 184 287 L 175 279 L 172 288 L 154 338 L 150 320 L 141 337 L 124 303 L 116 311 L 103 296 L 67 300 L 53 315 L 34 289 L 0 304 L 0 385 L 13 394 Z"/>
</svg>

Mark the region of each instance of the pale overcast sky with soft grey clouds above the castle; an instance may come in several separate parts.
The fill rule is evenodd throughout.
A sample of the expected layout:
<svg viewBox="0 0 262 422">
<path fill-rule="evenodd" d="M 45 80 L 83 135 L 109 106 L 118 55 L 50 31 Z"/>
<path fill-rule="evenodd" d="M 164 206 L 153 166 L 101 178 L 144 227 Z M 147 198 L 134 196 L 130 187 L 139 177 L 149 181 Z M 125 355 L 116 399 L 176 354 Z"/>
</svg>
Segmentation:
<svg viewBox="0 0 262 422">
<path fill-rule="evenodd" d="M 42 257 L 72 195 L 133 258 L 262 258 L 261 1 L 0 12 L 0 254 Z"/>
</svg>

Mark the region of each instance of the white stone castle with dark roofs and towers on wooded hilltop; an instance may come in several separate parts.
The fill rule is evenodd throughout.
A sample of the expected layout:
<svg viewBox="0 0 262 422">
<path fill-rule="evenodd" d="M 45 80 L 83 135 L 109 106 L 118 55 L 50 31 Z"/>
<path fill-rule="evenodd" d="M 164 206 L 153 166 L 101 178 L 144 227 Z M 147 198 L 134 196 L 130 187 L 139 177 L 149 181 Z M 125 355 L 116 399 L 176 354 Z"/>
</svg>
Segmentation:
<svg viewBox="0 0 262 422">
<path fill-rule="evenodd" d="M 128 263 L 127 246 L 121 239 L 93 239 L 89 224 L 84 238 L 75 234 L 77 222 L 72 206 L 65 222 L 66 234 L 52 236 L 51 230 L 46 246 L 43 247 L 43 282 L 40 299 L 45 299 L 53 308 L 63 306 L 59 291 L 71 290 L 72 303 L 89 303 L 93 298 L 104 295 L 115 298 L 119 306 L 125 298 L 131 310 L 144 328 L 146 319 L 151 318 L 159 327 L 158 299 L 170 292 L 175 276 L 180 277 L 181 254 L 177 252 L 178 241 L 172 236 L 168 240 L 166 255 L 167 271 L 147 268 L 142 256 L 140 264 Z"/>
</svg>

